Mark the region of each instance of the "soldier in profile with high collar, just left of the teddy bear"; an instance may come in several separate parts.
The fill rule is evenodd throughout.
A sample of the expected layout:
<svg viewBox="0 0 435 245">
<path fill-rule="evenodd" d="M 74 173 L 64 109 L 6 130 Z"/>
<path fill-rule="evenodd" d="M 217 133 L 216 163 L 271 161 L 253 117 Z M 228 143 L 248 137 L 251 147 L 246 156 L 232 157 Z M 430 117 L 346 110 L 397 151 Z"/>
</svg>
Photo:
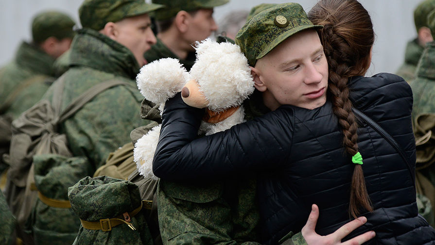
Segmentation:
<svg viewBox="0 0 435 245">
<path fill-rule="evenodd" d="M 74 161 L 89 164 L 89 176 L 111 151 L 130 141 L 130 131 L 144 123 L 139 115 L 143 97 L 134 79 L 139 67 L 146 63 L 143 53 L 156 43 L 149 14 L 160 7 L 143 0 L 84 0 L 79 8 L 83 29 L 77 31 L 71 44 L 70 68 L 42 99 L 52 101 L 56 107 L 53 94 L 63 84 L 60 104 L 64 110 L 96 84 L 131 84 L 104 90 L 59 125 Z M 79 219 L 72 212 L 61 220 L 53 216 L 44 222 L 58 230 L 64 228 L 63 244 L 72 244 Z"/>
</svg>

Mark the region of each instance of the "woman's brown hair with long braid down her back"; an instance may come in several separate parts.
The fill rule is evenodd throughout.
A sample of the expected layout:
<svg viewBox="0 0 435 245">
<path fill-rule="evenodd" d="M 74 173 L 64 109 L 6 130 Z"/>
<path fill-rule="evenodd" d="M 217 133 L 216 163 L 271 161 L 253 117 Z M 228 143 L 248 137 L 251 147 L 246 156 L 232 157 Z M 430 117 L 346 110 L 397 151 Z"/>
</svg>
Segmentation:
<svg viewBox="0 0 435 245">
<path fill-rule="evenodd" d="M 315 25 L 323 25 L 319 36 L 329 65 L 328 90 L 334 114 L 343 131 L 343 145 L 350 156 L 358 152 L 358 124 L 349 99 L 349 78 L 364 75 L 370 65 L 374 43 L 369 14 L 357 0 L 320 0 L 308 13 Z M 355 164 L 350 188 L 349 213 L 356 218 L 361 209 L 373 211 L 363 168 Z"/>
</svg>

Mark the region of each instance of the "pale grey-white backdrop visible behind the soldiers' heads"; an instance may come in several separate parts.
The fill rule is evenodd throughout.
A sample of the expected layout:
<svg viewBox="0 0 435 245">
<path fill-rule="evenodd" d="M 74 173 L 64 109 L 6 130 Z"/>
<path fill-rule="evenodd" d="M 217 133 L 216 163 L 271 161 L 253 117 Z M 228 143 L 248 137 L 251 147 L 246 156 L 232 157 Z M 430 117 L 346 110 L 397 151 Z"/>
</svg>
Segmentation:
<svg viewBox="0 0 435 245">
<path fill-rule="evenodd" d="M 149 1 L 149 0 L 147 0 Z M 295 0 L 306 11 L 316 0 Z M 394 73 L 403 62 L 404 49 L 408 40 L 417 34 L 413 10 L 421 0 L 360 0 L 369 11 L 376 33 L 372 66 L 369 74 Z M 78 8 L 82 0 L 0 0 L 0 65 L 9 61 L 21 40 L 30 40 L 32 17 L 43 10 L 56 9 L 70 14 L 78 20 Z M 217 22 L 233 10 L 249 10 L 263 3 L 283 3 L 285 0 L 230 0 L 214 10 Z"/>
</svg>

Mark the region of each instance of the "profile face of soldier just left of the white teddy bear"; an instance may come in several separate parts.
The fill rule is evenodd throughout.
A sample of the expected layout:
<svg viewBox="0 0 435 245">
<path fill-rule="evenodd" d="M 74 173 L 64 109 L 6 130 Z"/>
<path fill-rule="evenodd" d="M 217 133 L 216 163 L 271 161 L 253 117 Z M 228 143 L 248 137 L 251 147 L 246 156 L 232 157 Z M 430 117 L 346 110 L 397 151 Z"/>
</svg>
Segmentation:
<svg viewBox="0 0 435 245">
<path fill-rule="evenodd" d="M 148 14 L 128 17 L 116 22 L 115 25 L 116 30 L 112 39 L 130 49 L 139 66 L 145 65 L 143 53 L 157 42 L 151 30 L 151 19 Z"/>
</svg>

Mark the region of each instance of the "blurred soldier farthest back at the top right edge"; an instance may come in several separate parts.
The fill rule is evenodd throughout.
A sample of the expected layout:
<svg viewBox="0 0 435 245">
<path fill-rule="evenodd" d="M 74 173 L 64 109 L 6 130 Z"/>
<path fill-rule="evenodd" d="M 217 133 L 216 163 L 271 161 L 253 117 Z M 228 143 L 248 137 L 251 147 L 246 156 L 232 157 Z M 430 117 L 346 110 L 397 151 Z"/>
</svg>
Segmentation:
<svg viewBox="0 0 435 245">
<path fill-rule="evenodd" d="M 424 0 L 420 2 L 414 10 L 414 22 L 417 30 L 417 38 L 411 40 L 406 45 L 405 62 L 397 70 L 396 74 L 406 82 L 414 81 L 417 63 L 423 49 L 428 42 L 433 41 L 427 18 L 429 13 L 435 9 L 435 0 Z"/>
</svg>

